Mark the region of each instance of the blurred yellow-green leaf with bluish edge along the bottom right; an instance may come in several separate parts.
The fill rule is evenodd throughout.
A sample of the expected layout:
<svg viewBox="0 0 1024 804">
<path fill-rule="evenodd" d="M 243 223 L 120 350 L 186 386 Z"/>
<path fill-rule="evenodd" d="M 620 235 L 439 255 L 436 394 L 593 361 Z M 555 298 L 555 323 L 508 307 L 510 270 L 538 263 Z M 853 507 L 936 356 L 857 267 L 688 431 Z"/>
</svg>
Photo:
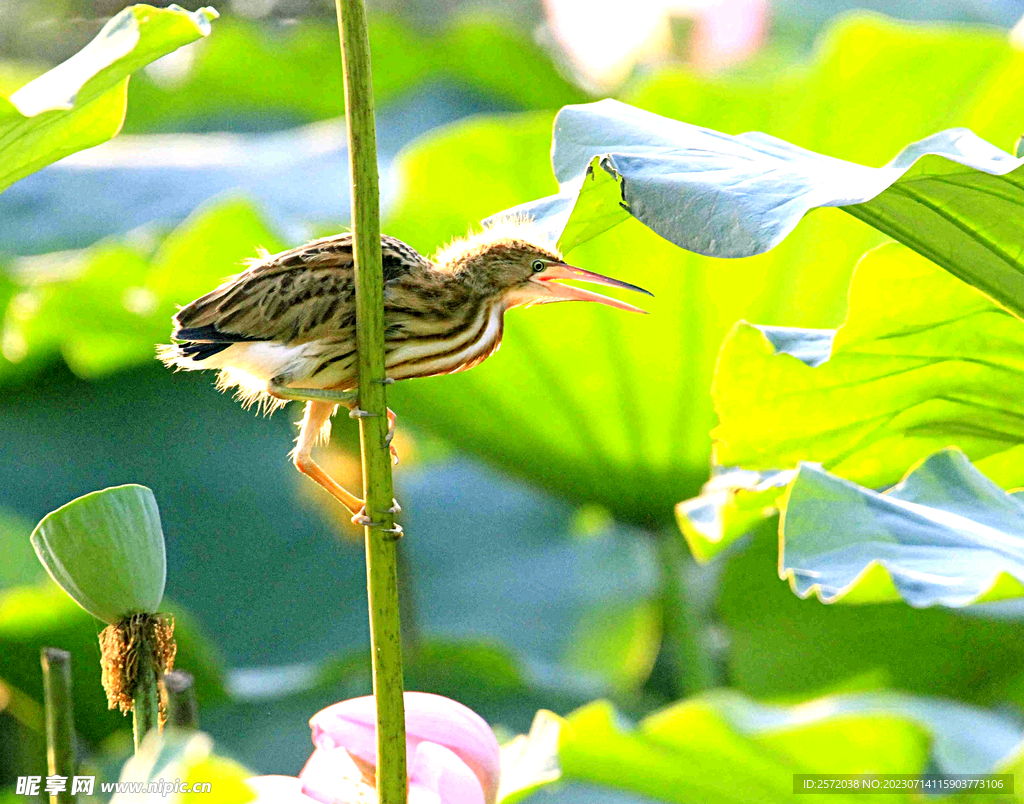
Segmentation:
<svg viewBox="0 0 1024 804">
<path fill-rule="evenodd" d="M 557 755 L 542 761 L 551 752 L 551 726 L 541 713 L 538 727 L 515 746 L 519 754 L 532 748 L 541 755 L 530 763 L 540 784 L 560 769 L 562 782 L 594 786 L 592 793 L 596 787 L 681 803 L 792 801 L 797 773 L 1008 772 L 1019 765 L 1021 740 L 1020 726 L 1009 718 L 892 692 L 774 706 L 723 690 L 676 704 L 632 728 L 597 702 L 562 721 Z M 837 795 L 915 800 L 894 793 L 808 800 Z M 1008 800 L 1020 800 L 1019 794 Z"/>
</svg>

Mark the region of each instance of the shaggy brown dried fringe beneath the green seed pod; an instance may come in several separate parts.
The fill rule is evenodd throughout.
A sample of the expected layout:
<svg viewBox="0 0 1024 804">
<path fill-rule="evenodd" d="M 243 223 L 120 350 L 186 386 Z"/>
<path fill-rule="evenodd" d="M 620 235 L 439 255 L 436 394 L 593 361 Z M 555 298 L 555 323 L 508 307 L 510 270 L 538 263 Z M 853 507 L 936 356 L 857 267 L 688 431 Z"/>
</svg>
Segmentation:
<svg viewBox="0 0 1024 804">
<path fill-rule="evenodd" d="M 148 651 L 158 678 L 174 669 L 177 645 L 174 643 L 173 617 L 132 615 L 117 625 L 108 626 L 99 634 L 99 664 L 110 709 L 120 709 L 125 715 L 131 712 L 143 650 Z M 162 701 L 161 723 L 165 718 Z"/>
</svg>

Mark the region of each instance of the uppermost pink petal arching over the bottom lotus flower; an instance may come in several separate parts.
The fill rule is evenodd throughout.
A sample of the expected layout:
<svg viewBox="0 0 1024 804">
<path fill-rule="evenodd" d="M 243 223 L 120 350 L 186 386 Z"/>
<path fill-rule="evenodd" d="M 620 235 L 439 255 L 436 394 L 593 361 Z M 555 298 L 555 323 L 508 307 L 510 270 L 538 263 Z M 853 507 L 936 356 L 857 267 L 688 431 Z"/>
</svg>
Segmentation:
<svg viewBox="0 0 1024 804">
<path fill-rule="evenodd" d="M 373 695 L 366 695 L 318 712 L 309 721 L 313 743 L 318 749 L 344 747 L 353 757 L 376 766 L 375 707 Z M 406 732 L 407 756 L 414 757 L 424 740 L 443 746 L 479 779 L 485 804 L 494 804 L 501 756 L 495 732 L 483 718 L 442 695 L 407 692 Z"/>
</svg>

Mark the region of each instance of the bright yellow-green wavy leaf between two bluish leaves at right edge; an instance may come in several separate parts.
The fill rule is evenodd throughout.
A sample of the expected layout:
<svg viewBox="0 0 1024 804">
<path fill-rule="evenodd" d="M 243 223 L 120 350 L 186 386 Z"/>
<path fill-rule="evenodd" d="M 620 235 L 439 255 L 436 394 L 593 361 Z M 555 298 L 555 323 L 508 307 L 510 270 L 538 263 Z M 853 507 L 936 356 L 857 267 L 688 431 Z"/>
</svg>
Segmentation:
<svg viewBox="0 0 1024 804">
<path fill-rule="evenodd" d="M 803 333 L 815 353 L 799 334 L 729 334 L 712 389 L 717 464 L 809 461 L 880 488 L 956 445 L 1004 488 L 1024 484 L 1024 327 L 973 288 L 890 244 L 857 266 L 834 338 Z"/>
</svg>

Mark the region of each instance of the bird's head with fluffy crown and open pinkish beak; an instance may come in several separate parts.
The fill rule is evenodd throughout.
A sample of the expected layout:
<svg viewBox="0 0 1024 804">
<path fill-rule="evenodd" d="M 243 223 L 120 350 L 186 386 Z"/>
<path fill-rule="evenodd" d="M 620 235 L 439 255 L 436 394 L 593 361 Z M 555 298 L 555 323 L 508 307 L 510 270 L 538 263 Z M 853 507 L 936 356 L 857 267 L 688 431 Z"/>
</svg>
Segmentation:
<svg viewBox="0 0 1024 804">
<path fill-rule="evenodd" d="M 475 292 L 501 299 L 506 308 L 553 301 L 596 301 L 631 312 L 644 312 L 618 299 L 562 285 L 562 280 L 651 295 L 636 285 L 567 265 L 554 243 L 520 220 L 499 222 L 458 240 L 438 252 L 434 261 Z"/>
</svg>

